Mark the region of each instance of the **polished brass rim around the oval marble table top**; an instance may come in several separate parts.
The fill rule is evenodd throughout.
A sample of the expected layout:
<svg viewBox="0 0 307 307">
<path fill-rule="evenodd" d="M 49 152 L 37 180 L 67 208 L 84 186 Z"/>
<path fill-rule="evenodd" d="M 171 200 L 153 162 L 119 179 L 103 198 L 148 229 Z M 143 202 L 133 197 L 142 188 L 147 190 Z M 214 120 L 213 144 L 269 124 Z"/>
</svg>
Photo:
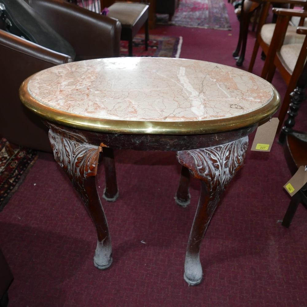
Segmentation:
<svg viewBox="0 0 307 307">
<path fill-rule="evenodd" d="M 221 119 L 207 119 L 200 121 L 126 121 L 115 119 L 101 119 L 84 115 L 71 114 L 60 111 L 38 102 L 28 91 L 27 78 L 19 88 L 22 103 L 37 115 L 48 121 L 57 122 L 74 128 L 121 134 L 203 134 L 235 130 L 252 126 L 270 119 L 280 106 L 280 95 L 271 85 L 273 95 L 263 107 L 247 114 L 236 115 Z"/>
</svg>

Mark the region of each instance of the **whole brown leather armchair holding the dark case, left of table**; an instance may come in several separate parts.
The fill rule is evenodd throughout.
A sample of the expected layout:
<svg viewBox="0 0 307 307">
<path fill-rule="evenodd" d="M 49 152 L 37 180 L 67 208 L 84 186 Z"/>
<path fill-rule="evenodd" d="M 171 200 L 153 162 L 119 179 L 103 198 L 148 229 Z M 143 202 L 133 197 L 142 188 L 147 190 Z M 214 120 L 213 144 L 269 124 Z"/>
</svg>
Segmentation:
<svg viewBox="0 0 307 307">
<path fill-rule="evenodd" d="M 119 56 L 121 25 L 118 20 L 59 0 L 26 2 L 72 45 L 76 52 L 75 60 Z M 4 29 L 0 24 L 1 28 Z M 35 114 L 23 107 L 18 89 L 30 75 L 73 59 L 2 30 L 0 54 L 0 135 L 13 144 L 51 151 L 47 128 Z"/>
</svg>

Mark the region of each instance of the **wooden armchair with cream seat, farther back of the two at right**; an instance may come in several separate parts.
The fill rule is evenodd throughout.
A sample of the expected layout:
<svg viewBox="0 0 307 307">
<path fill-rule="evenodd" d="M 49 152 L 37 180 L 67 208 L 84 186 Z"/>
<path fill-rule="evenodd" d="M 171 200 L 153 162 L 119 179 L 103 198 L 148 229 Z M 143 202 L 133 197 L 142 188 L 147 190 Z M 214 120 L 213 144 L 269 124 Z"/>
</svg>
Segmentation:
<svg viewBox="0 0 307 307">
<path fill-rule="evenodd" d="M 294 6 L 301 6 L 307 8 L 307 2 L 306 0 L 262 0 L 262 12 L 258 23 L 258 29 L 256 34 L 256 41 L 254 45 L 254 50 L 251 56 L 251 62 L 248 68 L 249 72 L 253 71 L 253 67 L 255 64 L 255 59 L 257 56 L 257 52 L 259 49 L 259 46 L 262 48 L 263 52 L 267 55 L 269 45 L 272 41 L 273 33 L 275 30 L 275 24 L 268 23 L 265 24 L 266 18 L 269 14 L 270 6 L 273 3 L 281 3 L 281 4 L 289 4 L 290 7 Z M 304 20 L 300 21 L 300 25 L 303 25 Z M 299 35 L 296 33 L 296 27 L 292 25 L 287 26 L 287 31 L 284 39 L 284 44 L 295 44 L 295 43 L 302 43 L 304 41 L 304 37 L 302 35 Z M 267 73 L 267 67 L 264 67 L 265 69 L 262 71 L 263 74 Z M 266 75 L 261 75 L 262 78 L 265 78 Z"/>
</svg>

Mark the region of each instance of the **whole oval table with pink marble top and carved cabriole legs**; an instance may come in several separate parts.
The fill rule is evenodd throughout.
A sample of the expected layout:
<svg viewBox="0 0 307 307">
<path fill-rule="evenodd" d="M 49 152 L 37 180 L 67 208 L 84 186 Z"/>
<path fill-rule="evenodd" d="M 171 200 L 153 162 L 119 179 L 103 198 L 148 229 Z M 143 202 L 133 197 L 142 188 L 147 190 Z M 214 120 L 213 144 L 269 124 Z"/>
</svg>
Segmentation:
<svg viewBox="0 0 307 307">
<path fill-rule="evenodd" d="M 189 172 L 201 192 L 184 278 L 202 279 L 200 244 L 225 187 L 242 166 L 248 134 L 278 109 L 267 81 L 225 65 L 173 58 L 109 58 L 55 66 L 29 77 L 22 102 L 45 120 L 55 160 L 67 173 L 98 235 L 94 265 L 112 262 L 111 238 L 95 185 L 105 154 L 104 197 L 118 194 L 111 149 L 171 150 L 184 166 L 176 202 L 189 203 Z M 188 171 L 189 170 L 189 171 Z"/>
</svg>

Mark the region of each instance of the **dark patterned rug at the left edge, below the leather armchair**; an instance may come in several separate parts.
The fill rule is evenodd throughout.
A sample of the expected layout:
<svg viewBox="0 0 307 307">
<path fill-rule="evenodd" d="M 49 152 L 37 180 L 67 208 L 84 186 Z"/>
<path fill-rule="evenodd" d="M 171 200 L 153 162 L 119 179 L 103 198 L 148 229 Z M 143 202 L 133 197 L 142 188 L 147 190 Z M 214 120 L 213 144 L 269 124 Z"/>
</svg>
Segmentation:
<svg viewBox="0 0 307 307">
<path fill-rule="evenodd" d="M 2 138 L 0 141 L 0 211 L 22 183 L 25 175 L 37 159 L 32 149 L 13 148 Z"/>
</svg>

